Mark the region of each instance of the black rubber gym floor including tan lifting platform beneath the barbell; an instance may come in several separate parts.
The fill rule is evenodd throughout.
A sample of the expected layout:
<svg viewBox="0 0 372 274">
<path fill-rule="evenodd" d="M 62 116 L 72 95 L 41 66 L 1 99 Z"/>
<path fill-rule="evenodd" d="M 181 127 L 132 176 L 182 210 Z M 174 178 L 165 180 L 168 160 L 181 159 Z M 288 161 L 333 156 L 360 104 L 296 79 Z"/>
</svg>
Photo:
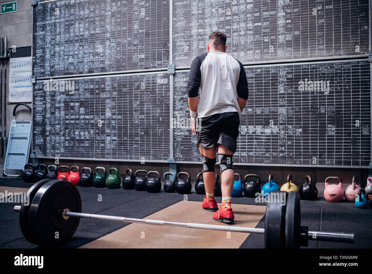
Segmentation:
<svg viewBox="0 0 372 274">
<path fill-rule="evenodd" d="M 26 192 L 31 184 L 1 180 L 0 192 Z M 82 212 L 131 218 L 151 218 L 206 224 L 222 224 L 212 219 L 212 212 L 203 210 L 203 195 L 192 192 L 188 201 L 178 193 L 148 193 L 146 191 L 82 188 Z M 102 201 L 98 196 L 102 195 Z M 221 197 L 216 197 L 218 203 Z M 19 215 L 13 211 L 17 203 L 0 203 L 0 248 L 39 248 L 29 243 L 19 227 Z M 219 204 L 220 205 L 220 204 Z M 234 226 L 264 227 L 265 204 L 244 196 L 232 199 Z M 302 248 L 370 248 L 372 243 L 372 208 L 358 209 L 343 200 L 330 203 L 301 200 L 301 225 L 309 230 L 355 233 L 354 243 L 309 240 Z M 213 245 L 207 244 L 213 239 Z M 114 221 L 81 219 L 71 241 L 62 248 L 264 248 L 263 234 L 188 229 L 182 227 L 129 224 Z"/>
</svg>

